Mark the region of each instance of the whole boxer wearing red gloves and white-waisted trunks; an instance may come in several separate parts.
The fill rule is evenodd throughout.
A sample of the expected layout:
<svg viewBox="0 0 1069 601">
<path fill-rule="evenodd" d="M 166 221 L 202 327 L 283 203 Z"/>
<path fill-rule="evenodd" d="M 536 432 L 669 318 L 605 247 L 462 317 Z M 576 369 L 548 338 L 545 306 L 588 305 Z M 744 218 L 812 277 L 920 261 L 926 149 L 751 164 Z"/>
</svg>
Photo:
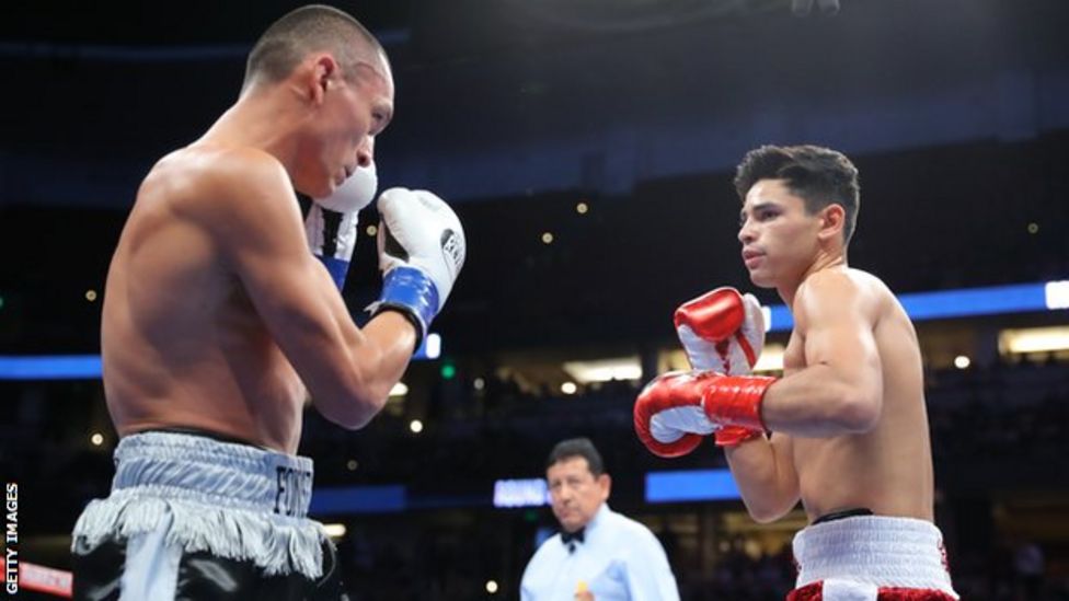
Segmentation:
<svg viewBox="0 0 1069 601">
<path fill-rule="evenodd" d="M 757 300 L 713 290 L 676 312 L 693 371 L 642 391 L 640 439 L 678 456 L 714 435 L 759 522 L 802 500 L 809 525 L 794 539 L 789 600 L 957 599 L 932 523 L 917 334 L 880 279 L 847 266 L 857 169 L 825 148 L 762 147 L 735 186 L 750 280 L 775 288 L 794 316 L 783 377 L 750 375 L 765 343 Z"/>
</svg>

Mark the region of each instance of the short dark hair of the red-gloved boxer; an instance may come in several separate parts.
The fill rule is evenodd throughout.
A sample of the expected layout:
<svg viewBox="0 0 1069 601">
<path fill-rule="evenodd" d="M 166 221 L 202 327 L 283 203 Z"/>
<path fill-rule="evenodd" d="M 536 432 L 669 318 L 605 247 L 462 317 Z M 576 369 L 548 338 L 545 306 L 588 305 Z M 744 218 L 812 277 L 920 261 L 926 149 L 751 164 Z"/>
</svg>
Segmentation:
<svg viewBox="0 0 1069 601">
<path fill-rule="evenodd" d="M 858 167 L 850 159 L 819 146 L 762 146 L 743 158 L 735 172 L 735 192 L 745 203 L 746 193 L 761 180 L 783 180 L 786 187 L 805 200 L 813 215 L 828 205 L 841 205 L 846 211 L 842 243 L 850 243 L 858 227 L 861 185 Z"/>
</svg>

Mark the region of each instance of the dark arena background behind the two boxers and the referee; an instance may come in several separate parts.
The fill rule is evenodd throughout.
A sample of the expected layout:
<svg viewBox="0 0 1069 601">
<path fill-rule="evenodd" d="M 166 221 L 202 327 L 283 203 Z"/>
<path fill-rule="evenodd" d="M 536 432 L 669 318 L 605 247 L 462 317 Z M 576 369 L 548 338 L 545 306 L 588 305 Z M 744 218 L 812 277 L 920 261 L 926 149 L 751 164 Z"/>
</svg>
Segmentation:
<svg viewBox="0 0 1069 601">
<path fill-rule="evenodd" d="M 5 8 L 0 355 L 99 351 L 100 299 L 85 292 L 102 291 L 138 182 L 234 101 L 256 36 L 297 5 Z M 575 435 L 606 454 L 613 506 L 665 541 L 685 598 L 782 596 L 782 566 L 743 553 L 759 534 L 724 525 L 739 505 L 642 500 L 644 472 L 717 466 L 720 453 L 648 455 L 631 434 L 636 383 L 555 392 L 562 361 L 637 354 L 655 363 L 674 346 L 680 301 L 747 287 L 731 180 L 750 148 L 848 153 L 862 181 L 850 262 L 896 292 L 1069 277 L 1065 1 L 843 0 L 835 16 L 804 18 L 777 0 L 334 5 L 393 62 L 380 189 L 434 189 L 469 241 L 435 323 L 446 356 L 412 367 L 409 396 L 359 432 L 307 417 L 301 452 L 317 461 L 318 486 L 404 483 L 432 499 L 340 518 L 358 599 L 473 599 L 491 578 L 496 597 L 514 598 L 534 529 L 552 517 L 493 510 L 486 492 L 494 478 L 539 477 L 552 444 Z M 576 212 L 579 201 L 589 212 Z M 553 244 L 541 242 L 547 231 Z M 355 261 L 354 312 L 379 286 L 366 235 Z M 1065 598 L 1067 358 L 1009 357 L 991 340 L 1002 327 L 1066 321 L 1055 311 L 920 328 L 940 525 L 968 598 Z M 954 370 L 944 357 L 955 352 L 974 367 Z M 447 363 L 457 375 L 441 374 Z M 64 536 L 110 484 L 115 436 L 100 382 L 0 381 L 0 467 L 20 482 L 31 541 L 23 554 L 66 567 Z M 419 436 L 412 418 L 427 426 Z M 88 442 L 92 431 L 103 447 Z M 1047 555 L 1042 592 L 1022 588 L 1014 568 L 1026 541 Z M 755 580 L 769 590 L 745 586 Z"/>
</svg>

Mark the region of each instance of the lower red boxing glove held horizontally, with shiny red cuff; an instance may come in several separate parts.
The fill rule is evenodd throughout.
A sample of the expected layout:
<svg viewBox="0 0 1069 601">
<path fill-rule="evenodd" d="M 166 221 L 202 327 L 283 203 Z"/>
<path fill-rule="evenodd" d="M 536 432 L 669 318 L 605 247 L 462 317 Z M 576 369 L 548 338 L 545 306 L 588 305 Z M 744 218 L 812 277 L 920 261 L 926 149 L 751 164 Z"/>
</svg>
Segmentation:
<svg viewBox="0 0 1069 601">
<path fill-rule="evenodd" d="M 635 432 L 651 452 L 666 458 L 693 451 L 702 437 L 725 426 L 763 432 L 761 398 L 774 381 L 714 371 L 658 375 L 635 401 Z M 749 431 L 728 435 L 732 439 L 751 436 Z"/>
</svg>

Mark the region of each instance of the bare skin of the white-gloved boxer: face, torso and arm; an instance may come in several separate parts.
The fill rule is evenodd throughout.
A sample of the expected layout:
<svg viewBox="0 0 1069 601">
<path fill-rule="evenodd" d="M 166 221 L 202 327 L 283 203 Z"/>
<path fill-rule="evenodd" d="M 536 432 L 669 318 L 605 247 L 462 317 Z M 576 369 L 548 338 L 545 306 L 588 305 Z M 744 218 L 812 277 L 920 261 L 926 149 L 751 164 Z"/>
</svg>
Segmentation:
<svg viewBox="0 0 1069 601">
<path fill-rule="evenodd" d="M 112 258 L 101 347 L 120 436 L 197 428 L 294 453 L 309 394 L 365 425 L 401 378 L 411 324 L 360 331 L 308 250 L 294 188 L 322 197 L 392 113 L 384 56 L 344 77 L 327 53 L 254 83 L 208 132 L 142 182 Z"/>
</svg>

